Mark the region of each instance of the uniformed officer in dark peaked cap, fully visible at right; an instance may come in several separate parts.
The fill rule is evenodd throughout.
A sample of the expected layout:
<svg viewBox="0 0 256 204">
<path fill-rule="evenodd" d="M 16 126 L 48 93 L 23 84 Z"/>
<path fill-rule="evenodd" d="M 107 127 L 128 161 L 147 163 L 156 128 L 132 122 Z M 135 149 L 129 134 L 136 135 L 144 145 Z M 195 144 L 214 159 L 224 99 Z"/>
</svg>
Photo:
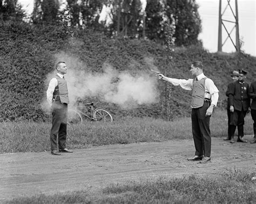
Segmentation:
<svg viewBox="0 0 256 204">
<path fill-rule="evenodd" d="M 247 142 L 244 137 L 245 115 L 250 107 L 250 87 L 245 82 L 247 72 L 239 69 L 239 79 L 228 87 L 226 95 L 230 103 L 230 133 L 231 143 L 234 143 L 235 128 L 238 128 L 237 142 Z"/>
</svg>

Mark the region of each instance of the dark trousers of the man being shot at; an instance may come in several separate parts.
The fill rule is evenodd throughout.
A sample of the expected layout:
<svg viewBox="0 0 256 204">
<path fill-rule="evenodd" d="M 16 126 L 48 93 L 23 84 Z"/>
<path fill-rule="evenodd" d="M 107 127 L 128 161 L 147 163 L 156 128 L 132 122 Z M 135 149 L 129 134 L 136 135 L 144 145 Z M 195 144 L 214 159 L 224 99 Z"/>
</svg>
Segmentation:
<svg viewBox="0 0 256 204">
<path fill-rule="evenodd" d="M 67 113 L 68 104 L 56 102 L 52 105 L 51 150 L 57 150 L 57 137 L 59 149 L 66 148 Z"/>
</svg>

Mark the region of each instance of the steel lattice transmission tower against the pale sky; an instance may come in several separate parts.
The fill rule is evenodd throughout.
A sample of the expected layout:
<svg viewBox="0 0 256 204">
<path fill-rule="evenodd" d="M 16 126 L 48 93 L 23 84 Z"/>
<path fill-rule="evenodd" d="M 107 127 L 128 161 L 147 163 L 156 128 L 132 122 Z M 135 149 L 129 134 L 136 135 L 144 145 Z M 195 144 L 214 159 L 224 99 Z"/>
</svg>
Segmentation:
<svg viewBox="0 0 256 204">
<path fill-rule="evenodd" d="M 232 0 L 233 2 L 235 1 L 235 13 L 234 13 L 231 5 L 230 5 L 231 0 L 224 0 L 224 1 L 227 1 L 227 5 L 226 5 L 224 11 L 222 12 L 222 10 L 221 10 L 222 3 L 221 3 L 221 0 L 219 0 L 218 51 L 222 52 L 223 45 L 226 43 L 226 41 L 228 39 L 230 39 L 232 44 L 235 47 L 235 50 L 237 52 L 240 52 L 239 24 L 238 24 L 238 4 L 237 4 L 237 0 Z M 232 14 L 234 16 L 235 21 L 223 19 L 223 15 L 227 11 L 227 9 L 231 10 L 231 12 L 232 12 Z M 234 24 L 234 26 L 233 26 L 233 28 L 231 29 L 230 32 L 228 32 L 227 26 L 225 26 L 224 22 L 225 23 L 228 22 L 228 23 L 233 23 Z M 227 38 L 224 40 L 224 43 L 223 43 L 223 40 L 222 40 L 222 30 L 223 30 L 223 27 L 224 27 L 225 31 L 227 32 Z M 233 32 L 234 29 L 235 29 L 235 40 L 233 40 L 232 37 L 231 37 L 231 33 Z M 234 41 L 235 41 L 235 43 L 234 43 Z"/>
</svg>

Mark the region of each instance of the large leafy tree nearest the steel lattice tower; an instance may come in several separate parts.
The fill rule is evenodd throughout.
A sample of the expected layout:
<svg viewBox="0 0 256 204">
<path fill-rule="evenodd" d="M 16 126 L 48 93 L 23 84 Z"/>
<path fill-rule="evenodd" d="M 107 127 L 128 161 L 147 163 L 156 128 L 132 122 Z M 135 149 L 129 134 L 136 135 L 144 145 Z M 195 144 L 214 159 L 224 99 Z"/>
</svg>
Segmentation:
<svg viewBox="0 0 256 204">
<path fill-rule="evenodd" d="M 148 0 L 146 35 L 151 40 L 166 40 L 164 24 L 175 21 L 173 38 L 178 46 L 197 44 L 201 31 L 198 5 L 194 0 Z M 167 18 L 167 19 L 165 19 Z M 169 40 L 170 41 L 170 40 Z"/>
</svg>

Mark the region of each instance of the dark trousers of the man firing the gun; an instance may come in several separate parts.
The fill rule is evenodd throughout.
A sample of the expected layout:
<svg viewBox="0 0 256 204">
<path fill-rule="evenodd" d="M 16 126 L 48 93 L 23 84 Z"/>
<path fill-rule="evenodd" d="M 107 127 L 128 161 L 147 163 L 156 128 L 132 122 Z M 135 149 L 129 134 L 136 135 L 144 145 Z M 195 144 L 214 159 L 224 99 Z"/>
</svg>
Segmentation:
<svg viewBox="0 0 256 204">
<path fill-rule="evenodd" d="M 196 148 L 196 156 L 211 156 L 211 116 L 205 116 L 209 105 L 210 102 L 205 101 L 203 107 L 192 108 L 192 134 L 194 139 L 194 146 Z"/>
</svg>

